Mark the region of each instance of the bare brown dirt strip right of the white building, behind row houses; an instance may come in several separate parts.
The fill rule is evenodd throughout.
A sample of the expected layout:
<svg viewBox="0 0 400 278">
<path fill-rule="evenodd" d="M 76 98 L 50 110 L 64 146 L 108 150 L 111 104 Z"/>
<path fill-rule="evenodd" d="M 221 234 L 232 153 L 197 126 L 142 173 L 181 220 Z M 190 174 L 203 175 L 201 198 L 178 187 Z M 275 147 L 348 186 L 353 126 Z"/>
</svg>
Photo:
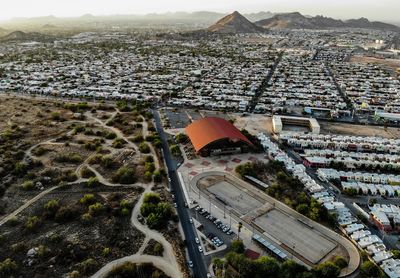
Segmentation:
<svg viewBox="0 0 400 278">
<path fill-rule="evenodd" d="M 376 136 L 383 138 L 398 139 L 400 129 L 384 128 L 379 126 L 353 125 L 343 123 L 319 122 L 322 134 L 340 134 L 352 136 Z"/>
</svg>

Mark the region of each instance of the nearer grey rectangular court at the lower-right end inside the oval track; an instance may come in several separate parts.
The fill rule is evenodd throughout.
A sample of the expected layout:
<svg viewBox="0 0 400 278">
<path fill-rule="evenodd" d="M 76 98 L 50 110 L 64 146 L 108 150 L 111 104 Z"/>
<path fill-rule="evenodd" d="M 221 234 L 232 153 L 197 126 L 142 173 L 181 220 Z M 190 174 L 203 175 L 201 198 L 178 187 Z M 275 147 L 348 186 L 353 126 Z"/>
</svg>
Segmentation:
<svg viewBox="0 0 400 278">
<path fill-rule="evenodd" d="M 335 242 L 276 209 L 256 218 L 255 223 L 313 264 L 337 247 Z"/>
</svg>

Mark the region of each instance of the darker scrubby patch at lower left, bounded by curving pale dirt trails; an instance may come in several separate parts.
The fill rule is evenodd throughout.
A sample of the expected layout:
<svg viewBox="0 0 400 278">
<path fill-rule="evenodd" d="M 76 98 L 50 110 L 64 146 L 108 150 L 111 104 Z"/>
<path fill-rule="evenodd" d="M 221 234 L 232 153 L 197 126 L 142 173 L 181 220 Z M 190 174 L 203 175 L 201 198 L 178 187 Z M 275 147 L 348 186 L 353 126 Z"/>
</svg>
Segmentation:
<svg viewBox="0 0 400 278">
<path fill-rule="evenodd" d="M 141 191 L 106 186 L 88 189 L 84 184 L 53 191 L 21 212 L 12 224 L 0 227 L 0 261 L 11 257 L 26 277 L 62 277 L 74 270 L 86 276 L 102 264 L 136 253 L 144 234 L 131 226 L 129 215 L 119 213 L 119 204 L 126 200 L 133 206 Z M 93 194 L 95 202 L 104 207 L 88 223 L 82 220 L 88 206 L 80 202 L 85 194 Z M 55 216 L 44 216 L 50 200 L 58 200 L 60 208 Z M 40 224 L 29 229 L 27 222 L 33 216 L 40 218 Z M 32 248 L 38 248 L 37 252 L 28 255 Z M 85 266 L 89 259 L 94 260 L 90 267 Z"/>
</svg>

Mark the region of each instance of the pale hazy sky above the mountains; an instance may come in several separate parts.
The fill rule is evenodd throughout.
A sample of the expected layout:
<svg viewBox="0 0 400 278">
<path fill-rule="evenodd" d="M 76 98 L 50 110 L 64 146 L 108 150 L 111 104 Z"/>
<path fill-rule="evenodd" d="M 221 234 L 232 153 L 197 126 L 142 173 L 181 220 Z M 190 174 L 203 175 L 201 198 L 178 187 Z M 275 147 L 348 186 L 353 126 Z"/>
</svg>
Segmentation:
<svg viewBox="0 0 400 278">
<path fill-rule="evenodd" d="M 0 19 L 174 11 L 290 12 L 400 21 L 400 0 L 0 0 Z"/>
</svg>

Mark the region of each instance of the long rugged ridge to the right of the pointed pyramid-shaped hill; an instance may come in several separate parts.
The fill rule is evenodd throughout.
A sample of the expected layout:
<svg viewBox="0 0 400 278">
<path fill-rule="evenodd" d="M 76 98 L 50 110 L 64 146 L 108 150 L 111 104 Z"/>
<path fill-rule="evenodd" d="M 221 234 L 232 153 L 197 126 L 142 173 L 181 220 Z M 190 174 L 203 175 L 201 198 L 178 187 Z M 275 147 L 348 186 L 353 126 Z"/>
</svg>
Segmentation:
<svg viewBox="0 0 400 278">
<path fill-rule="evenodd" d="M 332 29 L 363 28 L 385 31 L 400 31 L 400 27 L 366 18 L 342 21 L 324 16 L 306 17 L 298 12 L 277 14 L 268 19 L 255 22 L 266 29 Z"/>
</svg>

